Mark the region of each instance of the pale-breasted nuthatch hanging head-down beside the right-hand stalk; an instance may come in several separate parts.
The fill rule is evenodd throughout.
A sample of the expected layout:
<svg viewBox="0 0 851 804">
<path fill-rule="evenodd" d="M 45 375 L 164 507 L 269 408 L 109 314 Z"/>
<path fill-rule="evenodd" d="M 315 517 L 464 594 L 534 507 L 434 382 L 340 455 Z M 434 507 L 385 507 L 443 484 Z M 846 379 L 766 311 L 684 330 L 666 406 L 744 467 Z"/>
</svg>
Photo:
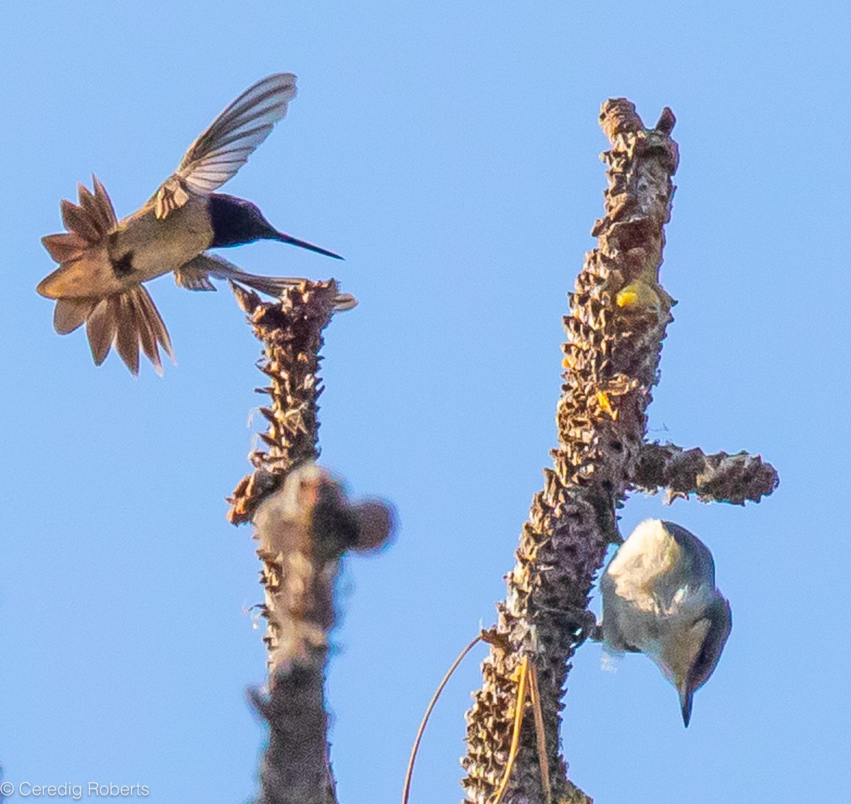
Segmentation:
<svg viewBox="0 0 851 804">
<path fill-rule="evenodd" d="M 730 604 L 715 586 L 709 548 L 680 525 L 645 520 L 600 581 L 605 646 L 645 653 L 677 688 L 683 723 L 730 635 Z"/>
</svg>

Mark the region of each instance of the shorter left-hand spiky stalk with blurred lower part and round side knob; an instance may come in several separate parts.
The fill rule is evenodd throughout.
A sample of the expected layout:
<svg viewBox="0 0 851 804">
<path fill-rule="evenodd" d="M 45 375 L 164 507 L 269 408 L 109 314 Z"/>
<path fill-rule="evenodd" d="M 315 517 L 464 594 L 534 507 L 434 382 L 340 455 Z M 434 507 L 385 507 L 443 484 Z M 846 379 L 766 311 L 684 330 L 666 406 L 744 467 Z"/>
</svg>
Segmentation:
<svg viewBox="0 0 851 804">
<path fill-rule="evenodd" d="M 342 485 L 316 464 L 317 371 L 322 332 L 334 309 L 354 302 L 334 281 L 303 282 L 279 302 L 260 302 L 231 283 L 263 342 L 269 377 L 266 450 L 249 456 L 254 472 L 230 499 L 234 524 L 254 523 L 266 600 L 269 691 L 249 695 L 269 724 L 260 763 L 259 804 L 335 804 L 324 701 L 328 633 L 334 627 L 334 581 L 348 550 L 368 551 L 390 537 L 393 515 L 380 501 L 351 504 Z"/>
</svg>

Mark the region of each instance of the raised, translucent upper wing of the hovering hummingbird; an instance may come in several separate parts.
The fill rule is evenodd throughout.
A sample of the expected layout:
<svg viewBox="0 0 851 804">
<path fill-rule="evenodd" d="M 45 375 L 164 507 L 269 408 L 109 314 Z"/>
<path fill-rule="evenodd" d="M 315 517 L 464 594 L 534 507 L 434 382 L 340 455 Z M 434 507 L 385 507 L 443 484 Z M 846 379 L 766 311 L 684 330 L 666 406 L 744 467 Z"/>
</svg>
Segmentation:
<svg viewBox="0 0 851 804">
<path fill-rule="evenodd" d="M 186 204 L 191 193 L 214 192 L 236 174 L 287 113 L 294 97 L 291 72 L 278 72 L 248 87 L 189 146 L 177 169 L 154 194 L 157 218 Z"/>
</svg>

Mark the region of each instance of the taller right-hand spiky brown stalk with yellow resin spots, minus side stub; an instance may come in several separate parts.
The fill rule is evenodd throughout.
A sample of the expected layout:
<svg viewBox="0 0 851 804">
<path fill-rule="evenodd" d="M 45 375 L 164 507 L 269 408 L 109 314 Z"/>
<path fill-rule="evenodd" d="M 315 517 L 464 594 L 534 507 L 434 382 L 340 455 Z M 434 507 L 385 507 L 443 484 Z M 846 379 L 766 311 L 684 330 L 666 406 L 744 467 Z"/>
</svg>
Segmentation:
<svg viewBox="0 0 851 804">
<path fill-rule="evenodd" d="M 570 658 L 593 623 L 587 605 L 594 575 L 608 543 L 620 538 L 617 508 L 633 486 L 673 477 L 664 461 L 654 474 L 640 467 L 651 455 L 645 411 L 674 303 L 659 284 L 659 268 L 678 161 L 670 136 L 675 118 L 665 109 L 656 127 L 645 129 L 635 106 L 620 98 L 603 104 L 600 121 L 611 142 L 603 153 L 605 215 L 592 230 L 597 249 L 585 256 L 564 319 L 559 445 L 523 526 L 505 601 L 497 605 L 497 629 L 508 649 L 491 646 L 466 715 L 462 784 L 477 804 L 492 800 L 505 771 L 524 656 L 538 671 L 552 801 L 591 801 L 568 781 L 559 750 Z M 771 488 L 762 485 L 761 493 Z M 537 742 L 527 703 L 507 804 L 545 801 Z"/>
</svg>

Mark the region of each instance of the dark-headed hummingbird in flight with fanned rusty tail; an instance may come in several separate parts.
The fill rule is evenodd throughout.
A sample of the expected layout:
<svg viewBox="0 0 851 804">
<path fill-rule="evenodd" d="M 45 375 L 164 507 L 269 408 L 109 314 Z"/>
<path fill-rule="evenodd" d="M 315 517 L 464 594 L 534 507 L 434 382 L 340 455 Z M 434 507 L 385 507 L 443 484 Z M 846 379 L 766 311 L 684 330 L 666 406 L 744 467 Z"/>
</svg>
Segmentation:
<svg viewBox="0 0 851 804">
<path fill-rule="evenodd" d="M 123 221 L 117 220 L 96 176 L 94 193 L 78 185 L 79 205 L 61 201 L 68 231 L 42 238 L 60 267 L 36 288 L 56 299 L 55 330 L 66 335 L 85 322 L 95 364 L 103 363 L 114 344 L 129 370 L 138 374 L 141 345 L 162 373 L 157 344 L 172 359 L 174 355 L 168 330 L 143 282 L 174 272 L 177 284 L 188 290 L 215 290 L 213 277 L 280 296 L 303 280 L 246 273 L 206 250 L 269 239 L 341 259 L 333 251 L 278 232 L 250 201 L 213 192 L 245 164 L 294 97 L 295 76 L 288 72 L 246 89 L 189 146 L 177 170 L 151 199 Z M 341 294 L 335 309 L 356 303 Z"/>
</svg>

